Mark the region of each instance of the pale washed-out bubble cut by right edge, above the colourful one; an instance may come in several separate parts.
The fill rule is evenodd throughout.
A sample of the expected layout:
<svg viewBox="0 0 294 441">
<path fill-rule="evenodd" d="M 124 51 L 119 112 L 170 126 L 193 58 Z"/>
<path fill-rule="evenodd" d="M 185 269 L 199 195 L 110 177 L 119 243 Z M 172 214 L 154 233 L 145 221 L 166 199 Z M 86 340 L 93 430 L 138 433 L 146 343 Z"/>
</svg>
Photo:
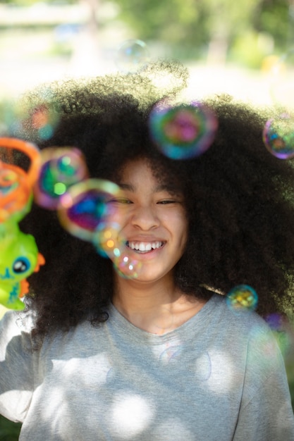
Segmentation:
<svg viewBox="0 0 294 441">
<path fill-rule="evenodd" d="M 294 106 L 294 49 L 283 54 L 271 70 L 270 93 L 274 104 L 283 108 Z"/>
</svg>

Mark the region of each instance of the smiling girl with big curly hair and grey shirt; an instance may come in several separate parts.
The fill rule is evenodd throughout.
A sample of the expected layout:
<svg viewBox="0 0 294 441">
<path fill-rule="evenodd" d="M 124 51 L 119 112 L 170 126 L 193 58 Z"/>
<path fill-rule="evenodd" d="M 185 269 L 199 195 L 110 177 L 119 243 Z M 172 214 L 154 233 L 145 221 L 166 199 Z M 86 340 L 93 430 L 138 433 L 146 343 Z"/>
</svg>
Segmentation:
<svg viewBox="0 0 294 441">
<path fill-rule="evenodd" d="M 54 211 L 26 216 L 46 265 L 27 310 L 0 330 L 0 411 L 23 422 L 20 440 L 294 440 L 283 358 L 262 318 L 293 311 L 293 167 L 265 149 L 267 116 L 227 97 L 209 101 L 218 129 L 204 154 L 161 154 L 149 114 L 185 78 L 161 63 L 51 85 L 61 119 L 39 147 L 76 147 L 91 177 L 118 185 L 111 222 L 137 274 Z M 255 288 L 257 312 L 226 302 L 240 284 Z"/>
</svg>

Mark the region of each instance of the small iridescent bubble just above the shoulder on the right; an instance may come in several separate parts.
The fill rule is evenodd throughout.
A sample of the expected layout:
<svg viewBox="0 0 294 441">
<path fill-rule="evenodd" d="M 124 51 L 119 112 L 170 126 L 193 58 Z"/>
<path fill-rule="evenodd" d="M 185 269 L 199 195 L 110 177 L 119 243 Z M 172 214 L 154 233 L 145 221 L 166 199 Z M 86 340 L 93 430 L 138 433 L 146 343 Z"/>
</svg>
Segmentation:
<svg viewBox="0 0 294 441">
<path fill-rule="evenodd" d="M 226 303 L 234 311 L 248 309 L 250 311 L 257 308 L 257 292 L 250 285 L 238 285 L 226 295 Z"/>
</svg>

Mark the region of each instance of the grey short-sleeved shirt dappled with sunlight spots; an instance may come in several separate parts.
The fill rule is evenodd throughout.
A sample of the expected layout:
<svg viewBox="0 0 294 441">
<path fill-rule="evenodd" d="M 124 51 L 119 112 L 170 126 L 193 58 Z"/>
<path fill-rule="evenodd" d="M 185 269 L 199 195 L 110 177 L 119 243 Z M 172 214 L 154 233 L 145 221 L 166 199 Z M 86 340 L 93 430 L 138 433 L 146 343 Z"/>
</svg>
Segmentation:
<svg viewBox="0 0 294 441">
<path fill-rule="evenodd" d="M 0 323 L 0 413 L 22 441 L 294 441 L 283 358 L 256 313 L 212 299 L 165 335 L 110 306 L 31 350 L 24 313 Z"/>
</svg>

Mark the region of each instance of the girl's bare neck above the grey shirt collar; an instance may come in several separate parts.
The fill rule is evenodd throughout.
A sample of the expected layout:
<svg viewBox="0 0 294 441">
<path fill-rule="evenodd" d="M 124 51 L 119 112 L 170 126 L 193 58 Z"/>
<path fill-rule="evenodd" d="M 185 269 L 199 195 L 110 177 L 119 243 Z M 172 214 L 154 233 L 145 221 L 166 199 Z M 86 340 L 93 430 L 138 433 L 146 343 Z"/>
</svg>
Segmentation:
<svg viewBox="0 0 294 441">
<path fill-rule="evenodd" d="M 162 335 L 194 316 L 205 301 L 180 292 L 172 280 L 145 285 L 118 276 L 113 304 L 137 328 Z"/>
</svg>

